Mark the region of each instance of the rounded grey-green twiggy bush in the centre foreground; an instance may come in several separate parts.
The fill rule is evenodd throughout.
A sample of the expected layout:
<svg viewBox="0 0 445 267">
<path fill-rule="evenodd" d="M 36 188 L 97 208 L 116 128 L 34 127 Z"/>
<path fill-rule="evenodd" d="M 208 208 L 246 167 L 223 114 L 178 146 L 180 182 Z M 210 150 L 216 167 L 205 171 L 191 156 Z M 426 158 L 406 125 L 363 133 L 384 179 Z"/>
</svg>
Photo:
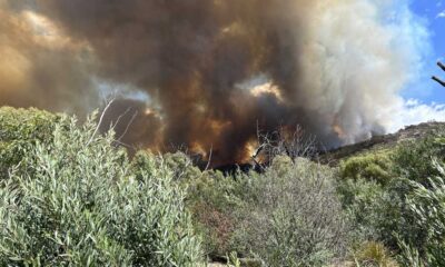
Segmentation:
<svg viewBox="0 0 445 267">
<path fill-rule="evenodd" d="M 347 229 L 334 176 L 306 159 L 276 157 L 255 177 L 238 243 L 266 266 L 324 266 L 343 256 Z"/>
</svg>

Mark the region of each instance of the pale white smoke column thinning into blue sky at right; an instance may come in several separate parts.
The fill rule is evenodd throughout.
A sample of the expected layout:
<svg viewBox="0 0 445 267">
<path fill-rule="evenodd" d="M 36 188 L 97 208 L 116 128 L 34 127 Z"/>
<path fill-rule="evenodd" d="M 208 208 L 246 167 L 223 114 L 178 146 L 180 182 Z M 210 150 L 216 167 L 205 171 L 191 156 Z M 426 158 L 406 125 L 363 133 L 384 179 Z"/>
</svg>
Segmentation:
<svg viewBox="0 0 445 267">
<path fill-rule="evenodd" d="M 408 1 L 318 1 L 308 22 L 300 63 L 310 90 L 298 101 L 336 123 L 346 142 L 369 137 L 377 126 L 392 131 L 443 118 L 439 107 L 407 105 L 400 97 L 431 49 L 426 23 Z"/>
</svg>

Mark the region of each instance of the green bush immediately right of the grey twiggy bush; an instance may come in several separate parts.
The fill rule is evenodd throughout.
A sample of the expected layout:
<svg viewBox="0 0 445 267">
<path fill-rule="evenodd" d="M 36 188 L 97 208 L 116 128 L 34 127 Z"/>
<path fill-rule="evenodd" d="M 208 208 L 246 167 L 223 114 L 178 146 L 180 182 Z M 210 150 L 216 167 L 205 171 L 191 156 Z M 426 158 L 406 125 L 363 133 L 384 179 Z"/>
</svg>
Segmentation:
<svg viewBox="0 0 445 267">
<path fill-rule="evenodd" d="M 419 247 L 425 241 L 423 227 L 407 204 L 413 191 L 411 181 L 393 178 L 383 187 L 375 181 L 347 180 L 338 188 L 343 205 L 354 225 L 355 243 L 382 241 L 390 249 L 398 249 L 398 239 L 415 241 Z"/>
</svg>

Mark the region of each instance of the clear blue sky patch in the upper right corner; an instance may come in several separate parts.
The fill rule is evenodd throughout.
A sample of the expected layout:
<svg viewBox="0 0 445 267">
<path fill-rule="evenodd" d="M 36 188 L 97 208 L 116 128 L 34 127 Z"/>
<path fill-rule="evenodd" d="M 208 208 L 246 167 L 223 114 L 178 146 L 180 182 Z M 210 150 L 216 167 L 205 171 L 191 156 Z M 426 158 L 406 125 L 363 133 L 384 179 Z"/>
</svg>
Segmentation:
<svg viewBox="0 0 445 267">
<path fill-rule="evenodd" d="M 436 75 L 445 80 L 445 72 L 436 61 L 445 62 L 445 0 L 413 0 L 412 11 L 421 17 L 429 33 L 431 50 L 426 51 L 421 77 L 403 92 L 405 98 L 418 99 L 425 103 L 445 103 L 445 89 L 431 80 Z"/>
</svg>

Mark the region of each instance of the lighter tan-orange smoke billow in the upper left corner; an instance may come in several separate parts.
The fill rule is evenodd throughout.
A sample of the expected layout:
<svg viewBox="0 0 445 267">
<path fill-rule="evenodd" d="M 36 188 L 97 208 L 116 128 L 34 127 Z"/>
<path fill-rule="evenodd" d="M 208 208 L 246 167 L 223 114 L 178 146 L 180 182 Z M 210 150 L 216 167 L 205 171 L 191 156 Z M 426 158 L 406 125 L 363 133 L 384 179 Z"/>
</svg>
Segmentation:
<svg viewBox="0 0 445 267">
<path fill-rule="evenodd" d="M 0 1 L 0 105 L 85 115 L 97 103 L 92 66 L 80 43 L 48 19 L 6 1 Z"/>
</svg>

